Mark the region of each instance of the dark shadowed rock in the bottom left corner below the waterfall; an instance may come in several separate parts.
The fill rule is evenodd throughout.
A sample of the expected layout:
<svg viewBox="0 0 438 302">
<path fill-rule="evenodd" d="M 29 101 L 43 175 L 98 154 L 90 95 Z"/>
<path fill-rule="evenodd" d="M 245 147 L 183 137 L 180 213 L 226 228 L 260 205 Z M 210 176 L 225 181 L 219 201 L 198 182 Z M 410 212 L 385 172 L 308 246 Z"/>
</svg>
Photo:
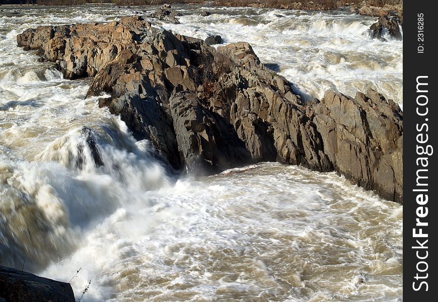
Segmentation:
<svg viewBox="0 0 438 302">
<path fill-rule="evenodd" d="M 69 283 L 0 265 L 0 301 L 75 302 Z"/>
</svg>

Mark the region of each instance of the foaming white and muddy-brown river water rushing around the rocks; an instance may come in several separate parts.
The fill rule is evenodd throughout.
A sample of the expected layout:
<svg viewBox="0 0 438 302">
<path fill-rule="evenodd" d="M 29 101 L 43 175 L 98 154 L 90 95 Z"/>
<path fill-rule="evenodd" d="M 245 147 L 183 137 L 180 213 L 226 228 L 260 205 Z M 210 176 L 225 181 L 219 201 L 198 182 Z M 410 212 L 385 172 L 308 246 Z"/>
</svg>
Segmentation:
<svg viewBox="0 0 438 302">
<path fill-rule="evenodd" d="M 82 268 L 70 283 L 80 297 L 92 280 L 83 301 L 402 300 L 402 206 L 333 173 L 274 163 L 178 178 L 98 98 L 85 99 L 89 80 L 63 80 L 16 46 L 37 25 L 152 8 L 0 8 L 2 265 L 63 281 Z M 371 87 L 403 102 L 402 42 L 371 40 L 373 18 L 177 9 L 180 25 L 157 26 L 248 41 L 305 95 Z"/>
</svg>

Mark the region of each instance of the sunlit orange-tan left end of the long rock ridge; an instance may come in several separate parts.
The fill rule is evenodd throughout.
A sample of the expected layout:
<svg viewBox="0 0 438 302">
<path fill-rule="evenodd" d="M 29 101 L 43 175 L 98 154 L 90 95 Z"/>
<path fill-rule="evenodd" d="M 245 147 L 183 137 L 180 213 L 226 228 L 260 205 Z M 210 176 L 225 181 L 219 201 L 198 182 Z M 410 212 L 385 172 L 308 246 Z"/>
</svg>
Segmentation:
<svg viewBox="0 0 438 302">
<path fill-rule="evenodd" d="M 65 79 L 94 77 L 112 58 L 124 49 L 136 49 L 141 28 L 147 22 L 122 17 L 108 24 L 39 26 L 17 36 L 18 45 L 39 50 L 41 55 L 57 62 Z"/>
</svg>

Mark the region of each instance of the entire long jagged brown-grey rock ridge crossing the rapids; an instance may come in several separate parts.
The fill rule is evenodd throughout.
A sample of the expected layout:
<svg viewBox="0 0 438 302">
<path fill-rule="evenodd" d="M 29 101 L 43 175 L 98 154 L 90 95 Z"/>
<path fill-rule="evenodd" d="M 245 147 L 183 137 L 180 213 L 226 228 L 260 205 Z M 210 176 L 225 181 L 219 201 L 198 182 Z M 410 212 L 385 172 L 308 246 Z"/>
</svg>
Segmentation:
<svg viewBox="0 0 438 302">
<path fill-rule="evenodd" d="M 95 75 L 88 95 L 108 93 L 100 105 L 136 138 L 154 142 L 174 168 L 212 173 L 279 161 L 337 171 L 402 202 L 402 113 L 391 100 L 328 91 L 304 104 L 248 43 L 215 49 L 137 16 L 85 28 L 40 27 L 17 40 L 59 60 L 67 78 Z"/>
</svg>

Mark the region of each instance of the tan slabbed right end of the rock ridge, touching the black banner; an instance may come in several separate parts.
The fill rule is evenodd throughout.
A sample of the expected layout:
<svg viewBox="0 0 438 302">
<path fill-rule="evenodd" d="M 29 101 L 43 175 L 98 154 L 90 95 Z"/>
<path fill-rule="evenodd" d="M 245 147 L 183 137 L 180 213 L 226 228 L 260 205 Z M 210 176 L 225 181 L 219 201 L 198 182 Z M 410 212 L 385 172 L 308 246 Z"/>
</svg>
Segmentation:
<svg viewBox="0 0 438 302">
<path fill-rule="evenodd" d="M 357 185 L 402 202 L 403 117 L 400 108 L 369 90 L 355 98 L 327 91 L 311 108 L 336 171 Z"/>
</svg>

